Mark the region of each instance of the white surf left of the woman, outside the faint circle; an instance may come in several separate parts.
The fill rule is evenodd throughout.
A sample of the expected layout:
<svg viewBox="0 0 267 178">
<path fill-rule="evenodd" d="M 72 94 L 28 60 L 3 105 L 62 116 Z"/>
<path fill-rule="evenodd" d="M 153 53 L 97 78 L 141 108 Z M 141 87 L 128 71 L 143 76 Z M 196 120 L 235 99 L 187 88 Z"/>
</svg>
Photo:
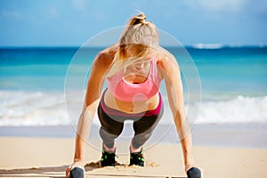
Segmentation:
<svg viewBox="0 0 267 178">
<path fill-rule="evenodd" d="M 63 94 L 0 91 L 0 126 L 68 124 Z"/>
</svg>

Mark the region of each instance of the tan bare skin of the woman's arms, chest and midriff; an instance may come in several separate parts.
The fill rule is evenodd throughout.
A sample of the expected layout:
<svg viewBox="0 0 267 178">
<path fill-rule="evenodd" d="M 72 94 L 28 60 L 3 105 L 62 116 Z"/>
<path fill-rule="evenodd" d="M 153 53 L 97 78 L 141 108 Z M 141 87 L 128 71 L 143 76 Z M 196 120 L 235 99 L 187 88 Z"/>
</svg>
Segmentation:
<svg viewBox="0 0 267 178">
<path fill-rule="evenodd" d="M 84 168 L 86 144 L 84 138 L 87 138 L 90 133 L 93 116 L 100 103 L 101 91 L 106 79 L 106 74 L 109 72 L 116 51 L 117 45 L 113 45 L 108 49 L 101 51 L 93 62 L 91 74 L 87 83 L 87 90 L 90 92 L 87 93 L 88 95 L 85 95 L 85 107 L 77 127 L 74 163 L 66 169 L 67 177 L 69 177 L 70 170 L 75 166 Z M 180 136 L 185 171 L 187 172 L 187 170 L 194 165 L 194 161 L 192 156 L 190 127 L 186 121 L 184 109 L 180 69 L 179 66 L 174 63 L 174 60 L 171 59 L 174 57 L 166 50 L 155 50 L 153 55 L 157 59 L 158 74 L 166 81 L 168 101 L 174 116 L 174 124 L 176 126 L 177 133 Z M 134 71 L 136 72 L 144 69 L 142 71 L 146 73 L 149 71 L 149 65 L 149 63 L 144 62 L 140 66 L 130 66 L 130 68 L 125 71 L 125 73 L 129 74 L 125 76 L 125 81 L 130 83 L 142 83 L 146 80 L 145 76 L 147 76 L 147 74 L 134 75 Z M 104 102 L 109 107 L 123 112 L 143 112 L 153 110 L 158 106 L 158 95 L 151 97 L 145 102 L 125 102 L 119 101 L 117 98 L 112 96 L 109 90 L 107 90 Z M 132 147 L 131 149 L 138 150 L 139 148 Z"/>
</svg>

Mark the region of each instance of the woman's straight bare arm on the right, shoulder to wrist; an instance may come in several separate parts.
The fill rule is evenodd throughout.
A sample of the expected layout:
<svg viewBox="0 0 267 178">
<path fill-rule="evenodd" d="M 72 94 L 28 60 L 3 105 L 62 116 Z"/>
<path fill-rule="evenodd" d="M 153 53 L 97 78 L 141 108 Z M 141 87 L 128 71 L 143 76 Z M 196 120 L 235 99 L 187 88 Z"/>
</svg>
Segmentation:
<svg viewBox="0 0 267 178">
<path fill-rule="evenodd" d="M 186 119 L 184 108 L 180 68 L 175 58 L 170 54 L 160 59 L 158 66 L 160 74 L 166 81 L 168 101 L 174 116 L 176 131 L 182 144 L 185 171 L 187 172 L 194 165 L 194 160 L 190 124 Z"/>
</svg>

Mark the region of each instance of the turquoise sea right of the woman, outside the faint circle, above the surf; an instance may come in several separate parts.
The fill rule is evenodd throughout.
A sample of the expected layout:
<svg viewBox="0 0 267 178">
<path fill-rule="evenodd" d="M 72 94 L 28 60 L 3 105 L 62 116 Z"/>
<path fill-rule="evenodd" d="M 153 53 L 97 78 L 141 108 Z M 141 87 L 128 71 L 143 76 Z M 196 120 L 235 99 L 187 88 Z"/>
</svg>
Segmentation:
<svg viewBox="0 0 267 178">
<path fill-rule="evenodd" d="M 226 48 L 191 53 L 198 67 L 205 93 L 265 96 L 267 91 L 267 50 Z"/>
</svg>

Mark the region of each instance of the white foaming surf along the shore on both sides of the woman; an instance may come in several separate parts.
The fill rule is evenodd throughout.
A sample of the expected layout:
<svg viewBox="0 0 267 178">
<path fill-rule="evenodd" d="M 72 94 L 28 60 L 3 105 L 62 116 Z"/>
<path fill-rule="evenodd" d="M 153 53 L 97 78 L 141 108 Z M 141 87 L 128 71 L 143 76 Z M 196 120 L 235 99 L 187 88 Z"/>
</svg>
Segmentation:
<svg viewBox="0 0 267 178">
<path fill-rule="evenodd" d="M 76 94 L 73 95 L 74 99 Z M 81 103 L 72 111 L 61 92 L 0 91 L 0 126 L 61 126 L 77 122 Z M 164 97 L 165 113 L 160 124 L 171 124 L 172 113 Z M 191 124 L 267 123 L 267 96 L 237 96 L 228 100 L 185 104 L 186 111 L 197 111 Z M 200 106 L 200 107 L 199 107 Z M 189 107 L 199 107 L 189 110 Z M 69 112 L 76 112 L 69 114 Z M 75 120 L 69 119 L 75 116 Z M 95 116 L 95 118 L 97 115 Z M 98 120 L 94 123 L 99 124 Z"/>
</svg>

